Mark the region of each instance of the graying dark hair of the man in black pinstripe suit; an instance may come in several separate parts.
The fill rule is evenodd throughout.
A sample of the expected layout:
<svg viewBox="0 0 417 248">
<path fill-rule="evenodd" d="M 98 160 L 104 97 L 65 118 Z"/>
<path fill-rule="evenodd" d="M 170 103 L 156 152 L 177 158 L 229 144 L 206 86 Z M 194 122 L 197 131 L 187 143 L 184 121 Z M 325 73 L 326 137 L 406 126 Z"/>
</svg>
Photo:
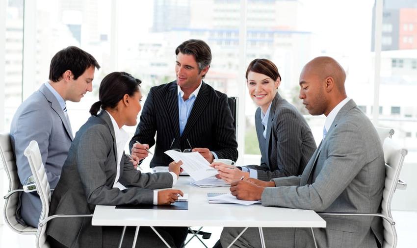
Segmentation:
<svg viewBox="0 0 417 248">
<path fill-rule="evenodd" d="M 195 61 L 198 64 L 198 73 L 210 66 L 211 63 L 211 50 L 209 45 L 202 40 L 187 40 L 182 42 L 180 46 L 175 50 L 175 55 L 178 53 L 194 55 Z M 205 75 L 203 75 L 204 77 Z"/>
</svg>

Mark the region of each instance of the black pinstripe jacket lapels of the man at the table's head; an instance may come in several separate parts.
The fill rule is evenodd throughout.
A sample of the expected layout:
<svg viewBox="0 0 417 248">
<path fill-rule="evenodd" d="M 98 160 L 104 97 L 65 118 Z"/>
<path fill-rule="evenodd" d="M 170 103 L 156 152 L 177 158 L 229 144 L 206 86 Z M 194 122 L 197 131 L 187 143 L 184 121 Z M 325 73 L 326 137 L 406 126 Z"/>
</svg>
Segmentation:
<svg viewBox="0 0 417 248">
<path fill-rule="evenodd" d="M 190 116 L 188 117 L 187 124 L 185 124 L 184 131 L 182 132 L 182 136 L 189 132 L 192 129 L 193 125 L 196 123 L 198 118 L 200 117 L 203 110 L 206 108 L 207 103 L 209 102 L 209 86 L 202 82 L 200 92 L 197 95 L 197 98 L 194 101 L 193 107 L 191 109 Z M 177 125 L 179 125 L 178 121 L 178 106 L 177 106 Z"/>
</svg>

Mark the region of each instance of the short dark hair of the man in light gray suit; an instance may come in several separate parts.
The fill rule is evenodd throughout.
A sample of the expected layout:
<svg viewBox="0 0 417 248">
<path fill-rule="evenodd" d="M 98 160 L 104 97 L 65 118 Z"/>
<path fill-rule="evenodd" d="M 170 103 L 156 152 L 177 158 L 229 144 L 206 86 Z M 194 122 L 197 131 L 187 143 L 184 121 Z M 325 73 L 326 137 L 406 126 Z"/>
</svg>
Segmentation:
<svg viewBox="0 0 417 248">
<path fill-rule="evenodd" d="M 49 80 L 58 82 L 67 70 L 70 70 L 74 80 L 77 80 L 91 66 L 100 69 L 99 63 L 90 53 L 71 46 L 53 55 L 49 67 Z"/>
</svg>

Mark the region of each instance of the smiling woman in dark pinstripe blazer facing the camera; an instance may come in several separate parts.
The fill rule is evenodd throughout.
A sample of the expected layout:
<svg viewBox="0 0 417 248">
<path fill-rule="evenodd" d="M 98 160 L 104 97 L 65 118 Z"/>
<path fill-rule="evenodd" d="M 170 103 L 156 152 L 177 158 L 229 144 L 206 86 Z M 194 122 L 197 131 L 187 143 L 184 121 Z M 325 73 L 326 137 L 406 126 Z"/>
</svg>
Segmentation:
<svg viewBox="0 0 417 248">
<path fill-rule="evenodd" d="M 242 176 L 269 181 L 301 174 L 316 145 L 304 117 L 278 94 L 281 83 L 278 68 L 270 60 L 255 59 L 248 66 L 246 80 L 249 95 L 259 106 L 255 125 L 261 165 L 249 165 L 241 170 L 231 170 L 220 163 L 211 166 L 218 169 L 219 177 L 229 183 Z"/>
</svg>

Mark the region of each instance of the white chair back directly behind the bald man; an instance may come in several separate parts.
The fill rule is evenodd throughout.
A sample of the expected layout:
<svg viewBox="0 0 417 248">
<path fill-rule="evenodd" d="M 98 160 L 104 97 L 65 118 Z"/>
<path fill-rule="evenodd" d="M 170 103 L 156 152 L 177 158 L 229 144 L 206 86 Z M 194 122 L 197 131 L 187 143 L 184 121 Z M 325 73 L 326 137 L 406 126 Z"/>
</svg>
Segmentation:
<svg viewBox="0 0 417 248">
<path fill-rule="evenodd" d="M 386 178 L 381 207 L 382 214 L 389 216 L 392 219 L 391 200 L 395 192 L 402 165 L 404 163 L 404 157 L 405 155 L 407 155 L 408 150 L 401 148 L 390 138 L 385 138 L 383 149 L 386 168 Z M 395 226 L 391 225 L 391 223 L 389 223 L 385 219 L 383 219 L 383 225 L 383 248 L 395 248 L 397 246 L 397 233 L 395 231 Z"/>
</svg>

